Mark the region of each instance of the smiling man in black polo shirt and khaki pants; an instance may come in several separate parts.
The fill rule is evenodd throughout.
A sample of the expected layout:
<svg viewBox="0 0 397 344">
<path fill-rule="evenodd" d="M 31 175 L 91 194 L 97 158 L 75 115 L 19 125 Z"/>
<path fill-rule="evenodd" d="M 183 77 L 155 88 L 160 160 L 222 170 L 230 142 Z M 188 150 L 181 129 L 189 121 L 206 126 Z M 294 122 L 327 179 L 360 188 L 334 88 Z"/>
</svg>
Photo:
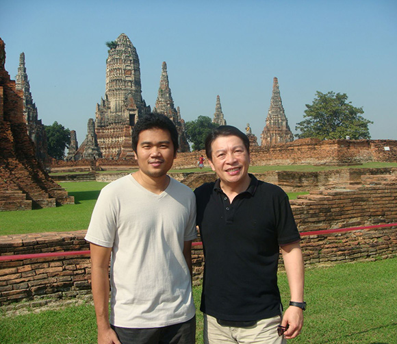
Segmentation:
<svg viewBox="0 0 397 344">
<path fill-rule="evenodd" d="M 300 235 L 288 197 L 248 174 L 249 140 L 237 128 L 213 130 L 205 152 L 219 179 L 194 191 L 205 255 L 204 342 L 285 343 L 300 333 L 306 307 Z M 284 315 L 280 247 L 291 294 Z"/>
</svg>

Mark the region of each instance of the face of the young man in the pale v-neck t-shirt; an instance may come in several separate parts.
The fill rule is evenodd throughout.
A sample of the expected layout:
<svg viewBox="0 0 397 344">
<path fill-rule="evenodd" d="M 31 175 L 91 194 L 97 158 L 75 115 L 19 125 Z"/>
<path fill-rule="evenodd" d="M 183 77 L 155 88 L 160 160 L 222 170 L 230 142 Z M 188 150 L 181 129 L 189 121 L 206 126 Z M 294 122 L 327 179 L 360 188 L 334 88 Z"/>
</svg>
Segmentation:
<svg viewBox="0 0 397 344">
<path fill-rule="evenodd" d="M 142 173 L 162 177 L 172 167 L 174 158 L 174 145 L 168 130 L 154 128 L 140 132 L 136 160 Z"/>
</svg>

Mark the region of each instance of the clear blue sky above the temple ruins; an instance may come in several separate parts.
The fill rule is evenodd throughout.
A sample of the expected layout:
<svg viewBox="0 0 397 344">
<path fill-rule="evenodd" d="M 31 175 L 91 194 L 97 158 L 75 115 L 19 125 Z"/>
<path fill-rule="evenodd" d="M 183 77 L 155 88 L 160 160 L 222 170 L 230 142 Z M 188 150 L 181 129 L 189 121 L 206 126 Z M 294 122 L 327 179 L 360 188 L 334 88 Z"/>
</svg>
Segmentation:
<svg viewBox="0 0 397 344">
<path fill-rule="evenodd" d="M 374 139 L 397 139 L 397 1 L 1 0 L 0 37 L 12 79 L 25 52 L 45 125 L 77 131 L 105 95 L 105 42 L 127 34 L 138 51 L 142 97 L 153 108 L 162 62 L 185 121 L 212 118 L 264 129 L 273 77 L 290 128 L 316 91 L 363 107 Z"/>
</svg>

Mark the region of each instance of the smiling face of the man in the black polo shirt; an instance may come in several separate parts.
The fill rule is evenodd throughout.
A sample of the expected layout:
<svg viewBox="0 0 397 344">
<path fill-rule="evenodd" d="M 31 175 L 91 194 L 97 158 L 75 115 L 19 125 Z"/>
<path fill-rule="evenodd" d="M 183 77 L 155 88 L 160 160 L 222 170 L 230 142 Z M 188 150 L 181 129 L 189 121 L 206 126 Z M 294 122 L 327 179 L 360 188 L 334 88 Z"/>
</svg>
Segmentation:
<svg viewBox="0 0 397 344">
<path fill-rule="evenodd" d="M 211 145 L 209 164 L 223 184 L 244 183 L 250 164 L 249 153 L 238 136 L 218 136 Z"/>
</svg>

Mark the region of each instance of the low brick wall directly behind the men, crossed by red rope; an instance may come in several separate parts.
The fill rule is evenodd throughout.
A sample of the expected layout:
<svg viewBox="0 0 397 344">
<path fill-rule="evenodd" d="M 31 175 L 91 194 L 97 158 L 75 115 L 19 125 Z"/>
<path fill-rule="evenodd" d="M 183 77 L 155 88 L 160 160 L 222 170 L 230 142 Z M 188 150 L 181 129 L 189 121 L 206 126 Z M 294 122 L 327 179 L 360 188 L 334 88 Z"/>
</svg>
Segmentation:
<svg viewBox="0 0 397 344">
<path fill-rule="evenodd" d="M 397 223 L 396 175 L 368 175 L 348 189 L 312 191 L 292 200 L 300 232 Z M 397 256 L 397 226 L 303 236 L 307 266 Z M 87 250 L 86 231 L 0 236 L 0 256 Z M 203 274 L 201 245 L 193 247 L 194 284 Z M 282 267 L 282 262 L 281 262 Z M 0 261 L 0 305 L 90 294 L 89 256 Z"/>
</svg>

